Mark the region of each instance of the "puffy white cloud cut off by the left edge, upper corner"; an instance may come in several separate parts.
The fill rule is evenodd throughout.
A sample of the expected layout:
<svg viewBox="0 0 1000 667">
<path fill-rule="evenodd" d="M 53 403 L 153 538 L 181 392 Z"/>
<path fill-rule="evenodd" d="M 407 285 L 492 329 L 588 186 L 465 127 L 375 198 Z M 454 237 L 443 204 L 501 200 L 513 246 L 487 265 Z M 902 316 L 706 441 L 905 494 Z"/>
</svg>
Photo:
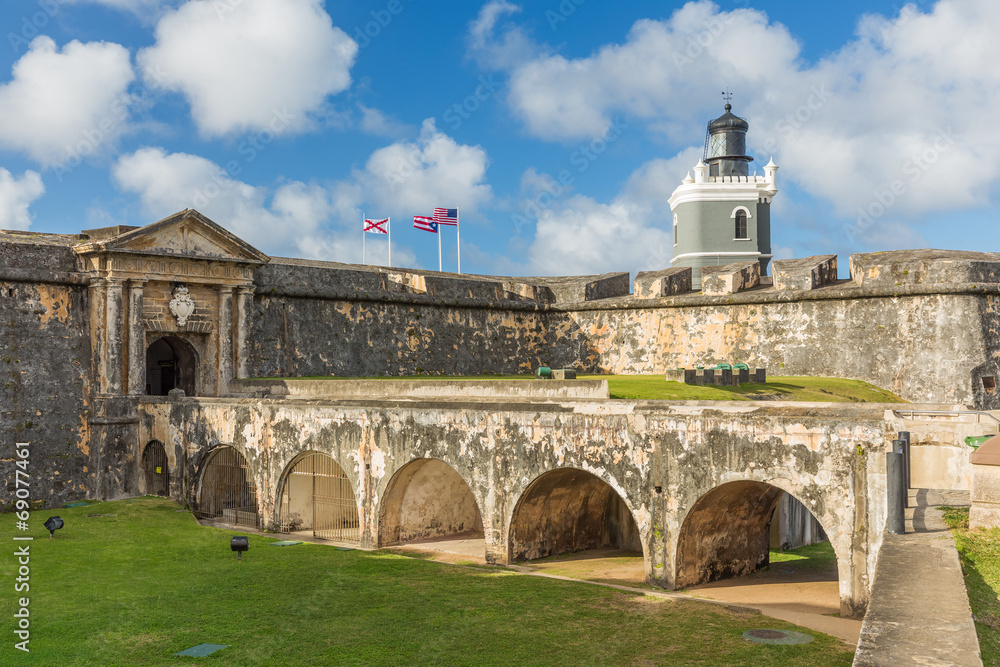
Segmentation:
<svg viewBox="0 0 1000 667">
<path fill-rule="evenodd" d="M 49 166 L 106 150 L 125 129 L 134 79 L 118 44 L 36 37 L 0 86 L 0 146 Z"/>
</svg>

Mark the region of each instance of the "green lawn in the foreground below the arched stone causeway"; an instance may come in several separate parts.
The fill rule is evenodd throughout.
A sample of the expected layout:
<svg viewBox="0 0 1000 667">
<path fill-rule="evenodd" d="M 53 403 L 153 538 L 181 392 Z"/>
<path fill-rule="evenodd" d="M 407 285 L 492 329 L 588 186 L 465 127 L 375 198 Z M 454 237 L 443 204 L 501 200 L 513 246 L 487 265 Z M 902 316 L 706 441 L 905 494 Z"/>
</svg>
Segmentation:
<svg viewBox="0 0 1000 667">
<path fill-rule="evenodd" d="M 741 638 L 751 628 L 798 629 L 716 606 L 603 587 L 442 565 L 385 553 L 199 526 L 172 502 L 143 498 L 35 512 L 29 593 L 31 653 L 0 648 L 0 664 L 36 665 L 850 665 L 836 639 L 804 646 Z M 88 517 L 90 514 L 113 516 Z M 8 535 L 10 535 L 8 533 Z M 8 545 L 11 544 L 8 537 Z M 0 559 L 11 628 L 17 568 Z M 21 595 L 21 594 L 19 594 Z M 206 658 L 172 654 L 229 644 Z"/>
</svg>

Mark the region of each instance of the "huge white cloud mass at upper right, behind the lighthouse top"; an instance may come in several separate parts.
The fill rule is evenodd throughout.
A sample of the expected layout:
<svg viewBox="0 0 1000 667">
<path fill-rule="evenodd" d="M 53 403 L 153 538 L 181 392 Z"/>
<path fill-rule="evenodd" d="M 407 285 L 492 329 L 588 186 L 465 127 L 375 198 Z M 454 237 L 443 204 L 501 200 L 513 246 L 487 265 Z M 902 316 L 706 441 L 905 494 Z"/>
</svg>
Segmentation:
<svg viewBox="0 0 1000 667">
<path fill-rule="evenodd" d="M 522 34 L 500 18 L 469 43 L 508 73 L 508 104 L 535 136 L 595 136 L 620 113 L 696 144 L 721 113 L 719 91 L 738 82 L 734 106 L 751 122 L 751 148 L 765 162 L 774 155 L 783 178 L 851 217 L 895 184 L 893 215 L 912 217 L 989 204 L 1000 177 L 1000 127 L 984 120 L 1000 105 L 998 24 L 995 0 L 907 5 L 863 18 L 852 41 L 807 63 L 765 13 L 700 0 L 637 21 L 623 42 L 581 58 L 537 48 L 493 57 L 511 31 Z"/>
</svg>

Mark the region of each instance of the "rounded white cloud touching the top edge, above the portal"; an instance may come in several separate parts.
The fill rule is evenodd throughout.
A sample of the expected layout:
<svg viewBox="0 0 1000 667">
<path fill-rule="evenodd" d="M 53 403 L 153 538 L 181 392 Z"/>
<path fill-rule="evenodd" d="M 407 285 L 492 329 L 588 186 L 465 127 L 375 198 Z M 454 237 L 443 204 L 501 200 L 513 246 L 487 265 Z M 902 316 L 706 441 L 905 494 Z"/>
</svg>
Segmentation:
<svg viewBox="0 0 1000 667">
<path fill-rule="evenodd" d="M 138 59 L 187 98 L 202 134 L 280 134 L 308 128 L 350 86 L 357 50 L 320 0 L 191 0 Z"/>
</svg>

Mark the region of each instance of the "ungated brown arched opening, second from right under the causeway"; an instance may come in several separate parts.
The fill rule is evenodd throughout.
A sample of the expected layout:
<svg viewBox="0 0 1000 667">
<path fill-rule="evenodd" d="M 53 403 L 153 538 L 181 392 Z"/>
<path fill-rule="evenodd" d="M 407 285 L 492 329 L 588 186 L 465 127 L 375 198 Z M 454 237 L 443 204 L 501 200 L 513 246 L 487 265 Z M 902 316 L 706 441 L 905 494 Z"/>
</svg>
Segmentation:
<svg viewBox="0 0 1000 667">
<path fill-rule="evenodd" d="M 531 565 L 555 565 L 578 578 L 645 580 L 632 512 L 607 482 L 585 470 L 553 470 L 525 489 L 511 518 L 509 549 L 511 562 L 546 558 Z"/>
</svg>

